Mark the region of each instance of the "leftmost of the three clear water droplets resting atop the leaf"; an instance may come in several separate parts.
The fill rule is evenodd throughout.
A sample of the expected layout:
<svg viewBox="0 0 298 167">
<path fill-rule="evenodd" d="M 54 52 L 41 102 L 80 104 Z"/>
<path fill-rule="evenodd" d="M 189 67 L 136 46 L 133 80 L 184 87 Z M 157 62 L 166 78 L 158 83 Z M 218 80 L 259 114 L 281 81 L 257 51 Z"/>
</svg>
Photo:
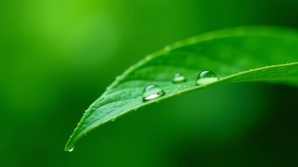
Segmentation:
<svg viewBox="0 0 298 167">
<path fill-rule="evenodd" d="M 151 100 L 156 97 L 160 97 L 163 94 L 165 94 L 165 91 L 163 91 L 163 88 L 161 88 L 161 86 L 152 84 L 144 88 L 142 93 L 142 99 Z"/>
</svg>

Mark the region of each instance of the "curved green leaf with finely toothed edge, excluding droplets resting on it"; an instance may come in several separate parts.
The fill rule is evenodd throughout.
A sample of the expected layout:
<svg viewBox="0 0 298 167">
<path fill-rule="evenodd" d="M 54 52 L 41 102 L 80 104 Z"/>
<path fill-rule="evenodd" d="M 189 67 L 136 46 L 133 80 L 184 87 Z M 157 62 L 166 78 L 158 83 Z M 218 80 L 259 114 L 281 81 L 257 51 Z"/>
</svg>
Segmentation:
<svg viewBox="0 0 298 167">
<path fill-rule="evenodd" d="M 202 70 L 215 72 L 218 81 L 195 86 Z M 173 84 L 175 72 L 184 74 L 187 81 Z M 150 54 L 117 77 L 89 106 L 65 150 L 96 127 L 141 106 L 216 84 L 244 81 L 298 86 L 297 31 L 266 26 L 226 29 L 177 42 Z M 142 90 L 149 84 L 161 86 L 165 94 L 143 101 Z"/>
</svg>

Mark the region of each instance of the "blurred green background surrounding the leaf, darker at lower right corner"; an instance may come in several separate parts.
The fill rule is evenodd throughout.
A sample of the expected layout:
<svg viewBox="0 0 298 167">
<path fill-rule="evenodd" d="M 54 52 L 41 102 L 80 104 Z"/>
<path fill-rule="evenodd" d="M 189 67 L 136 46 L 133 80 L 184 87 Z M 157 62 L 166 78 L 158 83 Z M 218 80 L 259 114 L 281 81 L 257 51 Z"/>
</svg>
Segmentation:
<svg viewBox="0 0 298 167">
<path fill-rule="evenodd" d="M 245 25 L 298 28 L 298 1 L 0 1 L 0 166 L 297 166 L 297 88 L 216 86 L 64 145 L 114 77 L 147 54 Z"/>
</svg>

